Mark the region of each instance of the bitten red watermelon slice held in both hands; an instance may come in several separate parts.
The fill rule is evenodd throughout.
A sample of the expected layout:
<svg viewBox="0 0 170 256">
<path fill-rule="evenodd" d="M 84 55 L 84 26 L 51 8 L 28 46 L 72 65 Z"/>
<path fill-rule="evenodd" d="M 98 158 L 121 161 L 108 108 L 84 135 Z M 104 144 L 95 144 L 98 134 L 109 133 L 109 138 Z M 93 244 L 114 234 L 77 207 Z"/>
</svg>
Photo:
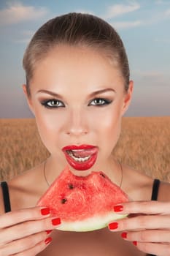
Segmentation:
<svg viewBox="0 0 170 256">
<path fill-rule="evenodd" d="M 120 187 L 102 172 L 74 176 L 66 167 L 37 203 L 61 218 L 58 230 L 90 231 L 106 227 L 126 215 L 115 214 L 113 206 L 128 201 Z"/>
</svg>

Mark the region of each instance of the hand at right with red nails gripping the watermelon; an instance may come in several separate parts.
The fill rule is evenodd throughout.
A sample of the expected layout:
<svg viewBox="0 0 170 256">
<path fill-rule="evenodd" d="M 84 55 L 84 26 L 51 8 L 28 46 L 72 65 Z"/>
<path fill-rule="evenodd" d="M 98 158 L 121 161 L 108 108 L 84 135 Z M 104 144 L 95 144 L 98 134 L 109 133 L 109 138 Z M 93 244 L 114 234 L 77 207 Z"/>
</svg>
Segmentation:
<svg viewBox="0 0 170 256">
<path fill-rule="evenodd" d="M 123 231 L 122 237 L 143 252 L 170 256 L 170 202 L 134 201 L 114 209 L 130 215 L 110 223 L 109 230 Z"/>
</svg>

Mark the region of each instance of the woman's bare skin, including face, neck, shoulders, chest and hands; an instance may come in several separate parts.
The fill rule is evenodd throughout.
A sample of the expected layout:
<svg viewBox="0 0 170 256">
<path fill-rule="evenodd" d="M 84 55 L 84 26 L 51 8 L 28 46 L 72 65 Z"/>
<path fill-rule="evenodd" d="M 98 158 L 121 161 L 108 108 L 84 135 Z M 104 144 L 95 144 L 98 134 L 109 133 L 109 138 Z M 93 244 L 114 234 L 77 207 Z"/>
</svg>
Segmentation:
<svg viewBox="0 0 170 256">
<path fill-rule="evenodd" d="M 125 92 L 119 69 L 104 54 L 88 48 L 60 45 L 39 62 L 30 86 L 31 97 L 26 94 L 26 85 L 23 85 L 23 91 L 36 118 L 42 142 L 50 151 L 46 165 L 47 181 L 52 183 L 68 164 L 61 151 L 63 146 L 91 144 L 98 146 L 98 158 L 95 165 L 83 173 L 87 175 L 92 170 L 102 170 L 119 185 L 120 166 L 111 153 L 120 135 L 121 118 L 131 102 L 133 82 Z M 110 90 L 92 95 L 108 88 Z M 52 97 L 47 91 L 60 94 L 60 97 Z M 103 99 L 111 102 L 98 106 L 95 105 L 96 98 L 102 99 L 100 103 L 104 103 Z M 59 108 L 42 105 L 45 100 L 51 104 L 50 99 L 59 100 L 55 102 Z M 131 218 L 117 221 L 115 230 L 105 228 L 87 233 L 64 233 L 53 230 L 56 226 L 51 221 L 55 217 L 42 215 L 41 209 L 34 207 L 47 189 L 43 166 L 44 163 L 9 181 L 12 212 L 4 214 L 0 207 L 0 236 L 3 237 L 0 255 L 12 255 L 13 248 L 16 255 L 24 256 L 62 256 L 70 252 L 81 256 L 170 255 L 169 184 L 161 182 L 159 201 L 150 202 L 152 178 L 123 165 L 121 188 L 133 201 L 123 204 L 120 214 L 131 214 Z M 70 169 L 74 174 L 82 175 L 82 172 Z M 45 230 L 53 232 L 47 234 Z M 126 233 L 126 238 L 121 237 L 122 232 Z M 49 236 L 53 242 L 47 246 L 45 239 Z M 136 246 L 133 241 L 137 241 Z"/>
</svg>

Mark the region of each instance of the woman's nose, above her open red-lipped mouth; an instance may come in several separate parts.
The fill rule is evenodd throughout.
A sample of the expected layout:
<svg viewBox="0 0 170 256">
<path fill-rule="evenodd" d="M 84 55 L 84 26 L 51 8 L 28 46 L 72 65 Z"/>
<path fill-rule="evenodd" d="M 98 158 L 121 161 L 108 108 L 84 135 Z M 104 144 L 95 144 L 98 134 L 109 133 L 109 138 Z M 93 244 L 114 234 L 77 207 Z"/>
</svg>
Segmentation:
<svg viewBox="0 0 170 256">
<path fill-rule="evenodd" d="M 72 110 L 67 121 L 67 135 L 86 135 L 88 133 L 88 121 L 85 113 L 80 110 Z"/>
</svg>

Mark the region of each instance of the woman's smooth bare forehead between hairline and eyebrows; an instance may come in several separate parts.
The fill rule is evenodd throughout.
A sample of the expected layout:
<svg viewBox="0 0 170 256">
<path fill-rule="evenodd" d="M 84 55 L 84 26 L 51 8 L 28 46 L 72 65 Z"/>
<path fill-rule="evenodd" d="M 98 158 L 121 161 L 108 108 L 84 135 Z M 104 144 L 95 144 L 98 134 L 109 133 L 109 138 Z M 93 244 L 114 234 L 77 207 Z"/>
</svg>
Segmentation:
<svg viewBox="0 0 170 256">
<path fill-rule="evenodd" d="M 123 83 L 117 65 L 102 51 L 78 46 L 58 45 L 36 64 L 31 83 L 34 86 L 103 86 Z"/>
</svg>

